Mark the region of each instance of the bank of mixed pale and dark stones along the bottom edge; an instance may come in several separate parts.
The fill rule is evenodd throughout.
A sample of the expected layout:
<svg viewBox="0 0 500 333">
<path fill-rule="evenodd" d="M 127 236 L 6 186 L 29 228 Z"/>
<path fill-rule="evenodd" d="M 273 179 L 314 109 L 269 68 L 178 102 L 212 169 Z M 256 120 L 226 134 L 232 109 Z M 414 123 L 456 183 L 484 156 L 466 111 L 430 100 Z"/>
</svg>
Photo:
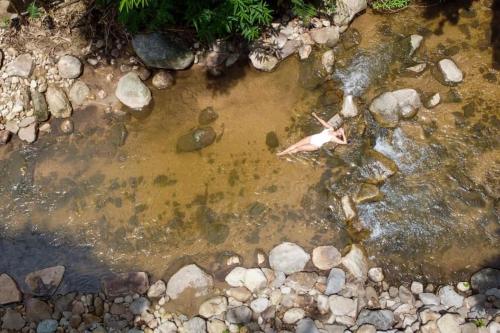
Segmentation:
<svg viewBox="0 0 500 333">
<path fill-rule="evenodd" d="M 391 285 L 363 250 L 312 253 L 282 243 L 256 265 L 238 256 L 212 274 L 195 263 L 166 281 L 144 272 L 103 279 L 98 294 L 58 295 L 65 268 L 26 276 L 24 295 L 0 275 L 2 332 L 500 332 L 500 270 L 452 285 Z M 178 304 L 199 305 L 188 315 Z"/>
</svg>

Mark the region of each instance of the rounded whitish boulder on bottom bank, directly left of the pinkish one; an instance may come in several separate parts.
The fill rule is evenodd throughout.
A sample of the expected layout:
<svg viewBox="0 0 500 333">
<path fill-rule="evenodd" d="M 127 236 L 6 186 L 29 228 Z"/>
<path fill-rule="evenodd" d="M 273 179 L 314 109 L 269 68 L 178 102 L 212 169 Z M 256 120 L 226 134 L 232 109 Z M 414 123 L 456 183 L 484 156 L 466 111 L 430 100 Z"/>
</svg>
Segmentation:
<svg viewBox="0 0 500 333">
<path fill-rule="evenodd" d="M 269 253 L 269 265 L 275 271 L 285 274 L 300 272 L 304 269 L 310 255 L 294 243 L 282 243 Z"/>
</svg>

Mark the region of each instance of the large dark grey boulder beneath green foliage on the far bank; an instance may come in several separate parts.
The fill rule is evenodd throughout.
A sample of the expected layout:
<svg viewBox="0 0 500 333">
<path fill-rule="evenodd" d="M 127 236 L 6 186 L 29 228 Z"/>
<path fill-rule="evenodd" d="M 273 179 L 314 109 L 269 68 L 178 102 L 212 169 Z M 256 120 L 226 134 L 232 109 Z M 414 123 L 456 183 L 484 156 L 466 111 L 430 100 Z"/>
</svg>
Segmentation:
<svg viewBox="0 0 500 333">
<path fill-rule="evenodd" d="M 186 44 L 170 34 L 138 34 L 132 37 L 132 46 L 149 67 L 181 70 L 194 61 L 194 54 Z"/>
</svg>

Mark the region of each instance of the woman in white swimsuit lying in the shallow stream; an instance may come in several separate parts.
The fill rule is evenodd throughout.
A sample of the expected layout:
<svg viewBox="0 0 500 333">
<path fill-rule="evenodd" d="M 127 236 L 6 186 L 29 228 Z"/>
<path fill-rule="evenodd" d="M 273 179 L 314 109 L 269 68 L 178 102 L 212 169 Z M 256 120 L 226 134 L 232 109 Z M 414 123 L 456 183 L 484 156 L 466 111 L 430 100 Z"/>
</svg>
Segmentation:
<svg viewBox="0 0 500 333">
<path fill-rule="evenodd" d="M 329 123 L 318 117 L 316 113 L 313 112 L 312 115 L 321 123 L 321 125 L 323 125 L 325 129 L 320 133 L 303 138 L 299 142 L 291 145 L 276 155 L 283 156 L 287 154 L 295 154 L 301 151 L 315 151 L 328 142 L 334 142 L 340 145 L 347 144 L 347 138 L 343 128 L 335 130 Z"/>
</svg>

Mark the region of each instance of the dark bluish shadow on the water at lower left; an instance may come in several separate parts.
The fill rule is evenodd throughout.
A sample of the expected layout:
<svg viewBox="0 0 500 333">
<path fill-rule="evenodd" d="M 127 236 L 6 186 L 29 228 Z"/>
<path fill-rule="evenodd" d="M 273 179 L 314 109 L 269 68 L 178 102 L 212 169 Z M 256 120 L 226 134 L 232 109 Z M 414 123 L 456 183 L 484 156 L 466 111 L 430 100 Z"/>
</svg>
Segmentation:
<svg viewBox="0 0 500 333">
<path fill-rule="evenodd" d="M 100 279 L 112 272 L 95 256 L 91 246 L 75 244 L 78 242 L 63 233 L 41 233 L 25 227 L 11 236 L 0 230 L 0 272 L 12 276 L 26 292 L 24 279 L 28 273 L 63 265 L 66 272 L 57 293 L 96 292 Z"/>
</svg>

